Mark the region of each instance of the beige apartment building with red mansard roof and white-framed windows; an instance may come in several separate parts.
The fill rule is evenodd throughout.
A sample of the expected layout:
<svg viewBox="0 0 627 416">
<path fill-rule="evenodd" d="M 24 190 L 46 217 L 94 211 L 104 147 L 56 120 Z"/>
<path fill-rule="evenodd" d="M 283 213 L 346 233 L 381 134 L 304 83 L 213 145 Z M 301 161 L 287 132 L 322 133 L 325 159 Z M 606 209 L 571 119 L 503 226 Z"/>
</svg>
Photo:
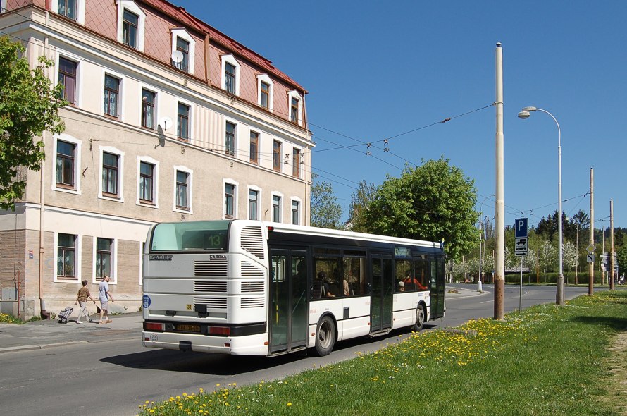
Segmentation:
<svg viewBox="0 0 627 416">
<path fill-rule="evenodd" d="M 1 32 L 32 66 L 55 62 L 70 102 L 23 200 L 0 212 L 2 312 L 58 314 L 104 274 L 113 312 L 137 310 L 158 221 L 309 224 L 307 92 L 271 61 L 168 1 L 1 7 Z"/>
</svg>

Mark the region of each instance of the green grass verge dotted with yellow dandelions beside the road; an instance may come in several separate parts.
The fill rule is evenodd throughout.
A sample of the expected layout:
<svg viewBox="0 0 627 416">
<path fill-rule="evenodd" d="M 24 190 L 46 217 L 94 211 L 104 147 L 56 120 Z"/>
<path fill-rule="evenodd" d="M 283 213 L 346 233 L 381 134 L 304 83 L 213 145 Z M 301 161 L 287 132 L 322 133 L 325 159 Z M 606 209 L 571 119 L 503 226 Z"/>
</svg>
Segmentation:
<svg viewBox="0 0 627 416">
<path fill-rule="evenodd" d="M 139 415 L 623 415 L 627 369 L 611 348 L 626 317 L 627 290 L 584 295 L 282 380 L 182 393 Z"/>
</svg>

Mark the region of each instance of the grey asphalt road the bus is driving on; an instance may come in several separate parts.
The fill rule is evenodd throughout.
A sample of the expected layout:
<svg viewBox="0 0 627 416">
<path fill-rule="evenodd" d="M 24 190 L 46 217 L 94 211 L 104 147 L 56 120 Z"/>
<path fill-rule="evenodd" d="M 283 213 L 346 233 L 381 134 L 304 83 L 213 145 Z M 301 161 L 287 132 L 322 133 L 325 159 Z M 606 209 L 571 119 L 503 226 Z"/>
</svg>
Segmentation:
<svg viewBox="0 0 627 416">
<path fill-rule="evenodd" d="M 447 299 L 447 316 L 429 322 L 428 328 L 457 326 L 468 319 L 492 317 L 491 285 L 476 294 L 474 286 L 462 288 Z M 586 288 L 566 288 L 566 298 L 587 293 Z M 519 306 L 519 287 L 505 288 L 505 311 Z M 554 302 L 555 288 L 523 286 L 523 308 Z M 120 331 L 109 341 L 80 343 L 44 350 L 0 354 L 0 408 L 4 415 L 135 415 L 146 400 L 162 401 L 182 393 L 277 379 L 304 369 L 347 360 L 356 353 L 378 350 L 395 343 L 407 331 L 378 338 L 337 343 L 328 357 L 304 354 L 280 357 L 237 357 L 143 348 L 139 336 Z"/>
</svg>

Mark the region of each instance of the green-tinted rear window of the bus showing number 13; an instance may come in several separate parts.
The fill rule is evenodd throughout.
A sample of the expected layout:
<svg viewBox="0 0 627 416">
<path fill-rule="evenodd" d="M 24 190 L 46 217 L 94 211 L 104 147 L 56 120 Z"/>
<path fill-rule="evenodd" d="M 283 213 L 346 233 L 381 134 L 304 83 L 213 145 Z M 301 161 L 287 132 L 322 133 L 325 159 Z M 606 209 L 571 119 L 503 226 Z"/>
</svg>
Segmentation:
<svg viewBox="0 0 627 416">
<path fill-rule="evenodd" d="M 230 220 L 161 223 L 152 231 L 150 252 L 222 250 L 228 248 Z"/>
</svg>

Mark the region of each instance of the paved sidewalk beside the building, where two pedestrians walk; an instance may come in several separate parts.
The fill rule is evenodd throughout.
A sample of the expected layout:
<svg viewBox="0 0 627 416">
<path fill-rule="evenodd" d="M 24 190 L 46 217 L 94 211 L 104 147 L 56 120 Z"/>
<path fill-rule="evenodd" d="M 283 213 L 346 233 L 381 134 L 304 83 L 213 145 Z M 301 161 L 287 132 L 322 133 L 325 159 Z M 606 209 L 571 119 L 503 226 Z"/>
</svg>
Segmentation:
<svg viewBox="0 0 627 416">
<path fill-rule="evenodd" d="M 40 350 L 73 343 L 97 343 L 116 338 L 136 338 L 141 340 L 142 312 L 131 312 L 109 316 L 113 321 L 99 325 L 99 316 L 92 315 L 93 323 L 76 323 L 74 310 L 67 324 L 59 324 L 56 319 L 29 322 L 23 325 L 0 324 L 0 354 L 13 351 Z"/>
</svg>

